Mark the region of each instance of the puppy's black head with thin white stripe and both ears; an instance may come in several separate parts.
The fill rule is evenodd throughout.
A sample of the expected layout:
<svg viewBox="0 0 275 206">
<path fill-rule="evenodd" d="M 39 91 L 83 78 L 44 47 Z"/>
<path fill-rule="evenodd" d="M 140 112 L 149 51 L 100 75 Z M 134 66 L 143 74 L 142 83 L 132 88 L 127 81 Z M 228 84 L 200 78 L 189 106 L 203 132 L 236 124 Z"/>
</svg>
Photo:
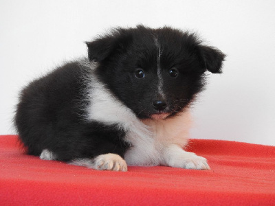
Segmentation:
<svg viewBox="0 0 275 206">
<path fill-rule="evenodd" d="M 100 80 L 141 119 L 184 111 L 203 89 L 205 71 L 221 73 L 225 58 L 195 34 L 170 27 L 119 28 L 87 47 Z"/>
</svg>

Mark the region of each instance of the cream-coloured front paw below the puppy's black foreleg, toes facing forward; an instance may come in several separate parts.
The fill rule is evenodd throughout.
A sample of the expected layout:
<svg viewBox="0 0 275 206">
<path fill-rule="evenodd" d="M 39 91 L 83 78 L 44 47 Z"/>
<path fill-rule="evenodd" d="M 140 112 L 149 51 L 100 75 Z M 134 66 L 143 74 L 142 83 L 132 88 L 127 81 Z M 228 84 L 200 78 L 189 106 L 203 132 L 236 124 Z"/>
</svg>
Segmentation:
<svg viewBox="0 0 275 206">
<path fill-rule="evenodd" d="M 99 155 L 94 159 L 96 170 L 127 171 L 127 164 L 120 155 L 106 154 Z"/>
</svg>

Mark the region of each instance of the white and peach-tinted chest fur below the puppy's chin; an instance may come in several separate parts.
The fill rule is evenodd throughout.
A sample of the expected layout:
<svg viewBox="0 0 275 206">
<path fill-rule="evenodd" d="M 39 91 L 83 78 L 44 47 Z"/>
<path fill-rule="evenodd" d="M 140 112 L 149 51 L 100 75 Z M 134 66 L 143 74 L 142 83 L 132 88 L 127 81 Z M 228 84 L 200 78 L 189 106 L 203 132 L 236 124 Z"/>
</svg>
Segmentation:
<svg viewBox="0 0 275 206">
<path fill-rule="evenodd" d="M 143 128 L 130 128 L 126 139 L 133 144 L 124 159 L 129 165 L 166 165 L 164 152 L 170 145 L 184 147 L 188 141 L 190 114 L 166 120 L 146 119 Z M 146 130 L 144 130 L 146 129 Z M 138 130 L 138 134 L 137 131 Z"/>
</svg>

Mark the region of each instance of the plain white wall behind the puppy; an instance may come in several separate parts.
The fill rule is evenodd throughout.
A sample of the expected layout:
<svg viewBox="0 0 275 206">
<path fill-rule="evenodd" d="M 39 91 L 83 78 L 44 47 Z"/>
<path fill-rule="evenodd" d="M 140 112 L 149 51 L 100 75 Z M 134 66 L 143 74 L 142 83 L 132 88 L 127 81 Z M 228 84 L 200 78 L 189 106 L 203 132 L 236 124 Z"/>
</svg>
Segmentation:
<svg viewBox="0 0 275 206">
<path fill-rule="evenodd" d="M 228 55 L 194 106 L 193 138 L 275 145 L 275 1 L 0 1 L 0 134 L 23 85 L 109 27 L 170 25 Z"/>
</svg>

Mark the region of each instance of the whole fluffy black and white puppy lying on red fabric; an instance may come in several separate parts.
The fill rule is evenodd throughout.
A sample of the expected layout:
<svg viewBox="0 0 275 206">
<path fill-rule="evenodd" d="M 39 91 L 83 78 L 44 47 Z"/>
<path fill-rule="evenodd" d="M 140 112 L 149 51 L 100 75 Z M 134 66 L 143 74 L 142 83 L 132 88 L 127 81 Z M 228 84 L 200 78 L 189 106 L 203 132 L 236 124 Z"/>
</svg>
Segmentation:
<svg viewBox="0 0 275 206">
<path fill-rule="evenodd" d="M 28 154 L 96 170 L 167 165 L 209 170 L 183 148 L 188 106 L 205 72 L 225 55 L 170 27 L 118 28 L 87 42 L 89 59 L 68 62 L 21 92 L 15 125 Z"/>
</svg>

